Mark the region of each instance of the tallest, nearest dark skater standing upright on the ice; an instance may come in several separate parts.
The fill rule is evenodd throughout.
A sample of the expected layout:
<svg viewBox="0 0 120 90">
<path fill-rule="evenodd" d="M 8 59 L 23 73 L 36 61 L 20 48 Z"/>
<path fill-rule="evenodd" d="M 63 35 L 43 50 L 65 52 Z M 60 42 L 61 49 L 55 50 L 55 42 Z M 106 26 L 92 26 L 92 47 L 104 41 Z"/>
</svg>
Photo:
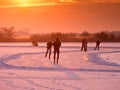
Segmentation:
<svg viewBox="0 0 120 90">
<path fill-rule="evenodd" d="M 60 47 L 61 47 L 61 42 L 60 42 L 59 38 L 56 38 L 56 40 L 53 43 L 53 46 L 54 46 L 54 64 L 56 62 L 56 54 L 57 54 L 57 64 L 58 64 Z"/>
</svg>

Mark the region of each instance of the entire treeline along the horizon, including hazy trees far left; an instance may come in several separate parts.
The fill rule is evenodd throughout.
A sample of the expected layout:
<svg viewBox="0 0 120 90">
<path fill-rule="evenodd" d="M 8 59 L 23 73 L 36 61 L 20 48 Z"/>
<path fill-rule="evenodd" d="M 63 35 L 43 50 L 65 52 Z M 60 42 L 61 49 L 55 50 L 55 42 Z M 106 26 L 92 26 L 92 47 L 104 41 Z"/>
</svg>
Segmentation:
<svg viewBox="0 0 120 90">
<path fill-rule="evenodd" d="M 89 42 L 95 42 L 100 40 L 102 42 L 120 42 L 120 31 L 100 31 L 96 33 L 89 33 L 83 31 L 82 33 L 61 33 L 53 32 L 47 34 L 31 34 L 29 37 L 18 38 L 14 27 L 1 27 L 0 28 L 0 42 L 47 42 L 55 40 L 59 37 L 62 42 L 81 42 L 83 38 L 86 38 Z"/>
</svg>

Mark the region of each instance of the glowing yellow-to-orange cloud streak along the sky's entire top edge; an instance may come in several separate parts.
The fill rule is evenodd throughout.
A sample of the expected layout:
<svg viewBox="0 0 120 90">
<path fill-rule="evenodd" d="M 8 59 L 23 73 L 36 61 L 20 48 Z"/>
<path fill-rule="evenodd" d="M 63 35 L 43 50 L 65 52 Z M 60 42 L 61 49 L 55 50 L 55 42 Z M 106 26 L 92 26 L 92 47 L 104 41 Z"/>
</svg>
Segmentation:
<svg viewBox="0 0 120 90">
<path fill-rule="evenodd" d="M 90 1 L 79 1 L 79 0 L 8 0 L 0 3 L 0 8 L 9 8 L 9 7 L 37 7 L 37 6 L 53 6 L 61 4 L 90 4 L 94 2 L 109 2 L 119 3 L 118 0 L 90 0 Z"/>
</svg>

